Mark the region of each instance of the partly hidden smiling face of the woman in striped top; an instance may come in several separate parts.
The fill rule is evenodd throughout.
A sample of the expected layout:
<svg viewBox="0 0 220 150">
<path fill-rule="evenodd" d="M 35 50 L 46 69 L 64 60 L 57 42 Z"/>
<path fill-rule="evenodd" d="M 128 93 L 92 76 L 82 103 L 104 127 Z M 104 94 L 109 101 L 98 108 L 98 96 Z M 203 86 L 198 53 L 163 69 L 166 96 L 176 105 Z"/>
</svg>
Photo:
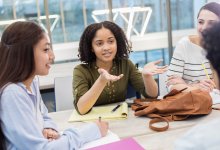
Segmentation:
<svg viewBox="0 0 220 150">
<path fill-rule="evenodd" d="M 218 16 L 209 10 L 201 10 L 198 19 L 197 19 L 197 32 L 200 37 L 201 33 L 205 29 L 210 28 L 214 23 L 220 21 Z"/>
</svg>

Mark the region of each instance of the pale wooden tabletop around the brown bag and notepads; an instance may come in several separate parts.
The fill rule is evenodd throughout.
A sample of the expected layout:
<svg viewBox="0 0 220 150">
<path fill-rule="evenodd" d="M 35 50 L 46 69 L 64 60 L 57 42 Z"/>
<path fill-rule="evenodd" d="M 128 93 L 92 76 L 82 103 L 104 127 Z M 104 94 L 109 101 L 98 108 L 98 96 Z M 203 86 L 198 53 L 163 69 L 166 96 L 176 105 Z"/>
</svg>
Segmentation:
<svg viewBox="0 0 220 150">
<path fill-rule="evenodd" d="M 57 123 L 59 130 L 69 126 L 79 126 L 82 123 L 68 123 L 72 110 L 50 113 L 49 116 Z M 149 129 L 149 118 L 135 117 L 129 109 L 126 120 L 111 120 L 109 128 L 120 138 L 133 137 L 139 144 L 148 150 L 173 149 L 174 141 L 186 133 L 190 128 L 203 122 L 218 118 L 220 111 L 213 110 L 211 114 L 201 117 L 191 117 L 184 121 L 170 122 L 170 128 L 165 132 L 155 132 Z M 159 123 L 158 125 L 162 125 Z"/>
</svg>

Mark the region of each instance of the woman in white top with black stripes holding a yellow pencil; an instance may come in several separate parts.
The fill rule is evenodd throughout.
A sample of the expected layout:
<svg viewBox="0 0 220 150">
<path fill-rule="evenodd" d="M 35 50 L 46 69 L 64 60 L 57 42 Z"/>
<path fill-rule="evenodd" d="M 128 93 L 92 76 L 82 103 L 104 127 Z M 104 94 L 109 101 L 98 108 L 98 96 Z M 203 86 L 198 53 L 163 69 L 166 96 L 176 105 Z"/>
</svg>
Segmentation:
<svg viewBox="0 0 220 150">
<path fill-rule="evenodd" d="M 211 2 L 200 9 L 197 16 L 198 35 L 182 38 L 174 50 L 167 72 L 169 90 L 189 87 L 188 89 L 199 88 L 210 92 L 215 88 L 214 76 L 200 41 L 202 31 L 218 21 L 220 4 Z"/>
</svg>

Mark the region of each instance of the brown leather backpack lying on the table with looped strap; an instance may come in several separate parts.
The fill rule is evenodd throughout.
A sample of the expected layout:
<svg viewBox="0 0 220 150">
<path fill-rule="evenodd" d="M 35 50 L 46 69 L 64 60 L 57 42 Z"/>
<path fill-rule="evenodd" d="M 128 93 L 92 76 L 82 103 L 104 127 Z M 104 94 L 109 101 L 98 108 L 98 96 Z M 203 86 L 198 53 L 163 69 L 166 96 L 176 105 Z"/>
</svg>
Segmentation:
<svg viewBox="0 0 220 150">
<path fill-rule="evenodd" d="M 185 90 L 185 89 L 183 89 Z M 205 115 L 212 111 L 212 98 L 208 92 L 193 90 L 172 90 L 161 100 L 143 102 L 136 99 L 132 104 L 135 116 L 153 118 L 149 127 L 155 131 L 165 131 L 169 128 L 169 121 L 184 120 L 191 115 Z M 153 126 L 156 122 L 167 122 L 165 127 Z"/>
</svg>

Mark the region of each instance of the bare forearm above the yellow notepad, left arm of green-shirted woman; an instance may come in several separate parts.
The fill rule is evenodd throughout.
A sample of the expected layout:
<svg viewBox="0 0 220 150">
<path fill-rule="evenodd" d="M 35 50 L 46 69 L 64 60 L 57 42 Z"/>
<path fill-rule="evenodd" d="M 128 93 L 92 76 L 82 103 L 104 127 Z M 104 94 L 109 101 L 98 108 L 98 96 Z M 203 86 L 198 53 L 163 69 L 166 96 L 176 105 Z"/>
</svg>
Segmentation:
<svg viewBox="0 0 220 150">
<path fill-rule="evenodd" d="M 99 77 L 93 86 L 83 96 L 80 97 L 77 103 L 80 114 L 87 113 L 93 107 L 106 84 L 107 80 L 103 80 L 101 77 Z"/>
</svg>

